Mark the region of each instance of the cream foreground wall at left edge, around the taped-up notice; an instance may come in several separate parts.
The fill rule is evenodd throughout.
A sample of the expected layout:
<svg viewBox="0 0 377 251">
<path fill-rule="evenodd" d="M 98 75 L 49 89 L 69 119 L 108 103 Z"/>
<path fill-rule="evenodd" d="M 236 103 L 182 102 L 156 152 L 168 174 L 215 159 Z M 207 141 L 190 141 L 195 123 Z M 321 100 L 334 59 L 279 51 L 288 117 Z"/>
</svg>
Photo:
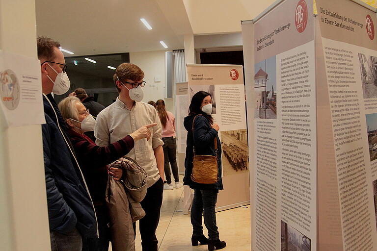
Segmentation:
<svg viewBox="0 0 377 251">
<path fill-rule="evenodd" d="M 35 25 L 34 0 L 0 0 L 1 50 L 37 58 Z M 41 126 L 7 128 L 0 111 L 1 251 L 50 250 L 45 184 Z"/>
</svg>

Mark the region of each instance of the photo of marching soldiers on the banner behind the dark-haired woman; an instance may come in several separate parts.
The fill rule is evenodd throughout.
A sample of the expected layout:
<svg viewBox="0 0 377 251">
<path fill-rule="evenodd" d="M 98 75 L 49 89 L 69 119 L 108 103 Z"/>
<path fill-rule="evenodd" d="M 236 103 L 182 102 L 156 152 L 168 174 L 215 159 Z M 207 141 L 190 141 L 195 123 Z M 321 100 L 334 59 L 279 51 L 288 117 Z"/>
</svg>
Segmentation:
<svg viewBox="0 0 377 251">
<path fill-rule="evenodd" d="M 222 131 L 222 170 L 224 176 L 246 172 L 248 148 L 246 129 Z"/>
</svg>

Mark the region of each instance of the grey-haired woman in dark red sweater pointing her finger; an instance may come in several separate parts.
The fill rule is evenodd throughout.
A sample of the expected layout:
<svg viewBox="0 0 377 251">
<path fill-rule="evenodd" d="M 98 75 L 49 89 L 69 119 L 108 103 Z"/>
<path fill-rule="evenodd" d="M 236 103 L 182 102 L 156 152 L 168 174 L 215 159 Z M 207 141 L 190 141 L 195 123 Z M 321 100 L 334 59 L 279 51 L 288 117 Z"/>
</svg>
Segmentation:
<svg viewBox="0 0 377 251">
<path fill-rule="evenodd" d="M 107 164 L 126 155 L 134 148 L 137 140 L 151 136 L 150 127 L 157 124 L 150 124 L 140 127 L 130 135 L 125 136 L 107 147 L 97 146 L 84 132 L 94 130 L 96 121 L 89 114 L 89 110 L 76 97 L 67 97 L 58 104 L 61 115 L 69 128 L 73 147 L 76 151 L 90 195 L 97 214 L 99 238 L 83 240 L 83 251 L 108 251 L 111 239 L 108 228 L 109 216 L 106 206 L 105 193 L 108 181 L 108 174 L 119 180 L 122 177 L 122 170 L 110 168 Z"/>
</svg>

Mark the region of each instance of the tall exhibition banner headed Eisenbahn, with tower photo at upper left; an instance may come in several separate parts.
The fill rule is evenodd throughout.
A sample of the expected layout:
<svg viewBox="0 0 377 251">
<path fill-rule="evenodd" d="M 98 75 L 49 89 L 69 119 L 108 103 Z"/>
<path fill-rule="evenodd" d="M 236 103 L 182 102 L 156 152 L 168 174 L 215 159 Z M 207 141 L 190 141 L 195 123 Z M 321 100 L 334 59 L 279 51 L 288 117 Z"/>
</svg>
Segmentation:
<svg viewBox="0 0 377 251">
<path fill-rule="evenodd" d="M 316 251 L 313 2 L 279 1 L 253 23 L 242 22 L 248 125 L 254 133 L 252 250 Z"/>
</svg>

